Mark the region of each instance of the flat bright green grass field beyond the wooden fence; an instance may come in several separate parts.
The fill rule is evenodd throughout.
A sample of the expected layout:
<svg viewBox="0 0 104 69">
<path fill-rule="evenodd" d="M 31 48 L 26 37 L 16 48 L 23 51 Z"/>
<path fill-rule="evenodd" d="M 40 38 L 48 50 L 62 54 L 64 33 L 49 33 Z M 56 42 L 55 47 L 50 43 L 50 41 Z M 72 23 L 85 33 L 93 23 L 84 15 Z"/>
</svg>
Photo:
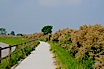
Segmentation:
<svg viewBox="0 0 104 69">
<path fill-rule="evenodd" d="M 25 41 L 26 39 L 21 38 L 21 37 L 0 37 L 0 42 L 4 42 L 10 45 L 20 44 Z"/>
</svg>

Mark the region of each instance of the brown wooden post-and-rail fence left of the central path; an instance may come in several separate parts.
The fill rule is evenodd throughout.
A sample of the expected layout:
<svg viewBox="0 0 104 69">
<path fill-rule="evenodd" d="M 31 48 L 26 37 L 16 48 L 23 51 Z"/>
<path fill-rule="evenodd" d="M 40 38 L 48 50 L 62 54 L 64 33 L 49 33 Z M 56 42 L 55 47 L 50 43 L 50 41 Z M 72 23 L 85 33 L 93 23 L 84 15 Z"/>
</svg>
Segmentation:
<svg viewBox="0 0 104 69">
<path fill-rule="evenodd" d="M 23 48 L 22 48 L 22 45 L 24 46 L 28 46 L 28 47 L 31 47 L 33 45 L 35 45 L 36 40 L 31 40 L 31 41 L 28 41 L 28 42 L 24 42 L 24 43 L 21 43 L 21 44 L 17 44 L 17 45 L 9 45 L 8 47 L 4 47 L 4 48 L 1 48 L 0 47 L 0 66 L 1 66 L 1 63 L 2 63 L 2 60 L 3 59 L 6 59 L 8 58 L 8 61 L 9 61 L 9 64 L 11 63 L 10 60 L 11 60 L 11 56 L 12 56 L 12 48 L 15 47 L 15 50 L 18 52 L 18 51 L 23 51 Z M 18 48 L 20 47 L 20 50 L 18 50 Z M 5 49 L 8 49 L 8 55 L 5 56 L 5 57 L 2 57 L 2 50 L 5 50 Z"/>
</svg>

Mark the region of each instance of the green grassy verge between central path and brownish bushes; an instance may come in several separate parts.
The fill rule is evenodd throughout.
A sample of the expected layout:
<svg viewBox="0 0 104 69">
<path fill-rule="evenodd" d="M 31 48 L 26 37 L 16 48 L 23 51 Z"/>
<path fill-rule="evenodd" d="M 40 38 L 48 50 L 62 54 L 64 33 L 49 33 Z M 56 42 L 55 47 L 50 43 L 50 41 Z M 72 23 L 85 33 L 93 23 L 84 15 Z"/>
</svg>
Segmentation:
<svg viewBox="0 0 104 69">
<path fill-rule="evenodd" d="M 58 43 L 49 42 L 51 50 L 55 54 L 55 58 L 58 64 L 57 69 L 91 69 L 93 61 L 79 62 L 75 58 L 71 57 L 70 54 L 59 46 Z"/>
</svg>

